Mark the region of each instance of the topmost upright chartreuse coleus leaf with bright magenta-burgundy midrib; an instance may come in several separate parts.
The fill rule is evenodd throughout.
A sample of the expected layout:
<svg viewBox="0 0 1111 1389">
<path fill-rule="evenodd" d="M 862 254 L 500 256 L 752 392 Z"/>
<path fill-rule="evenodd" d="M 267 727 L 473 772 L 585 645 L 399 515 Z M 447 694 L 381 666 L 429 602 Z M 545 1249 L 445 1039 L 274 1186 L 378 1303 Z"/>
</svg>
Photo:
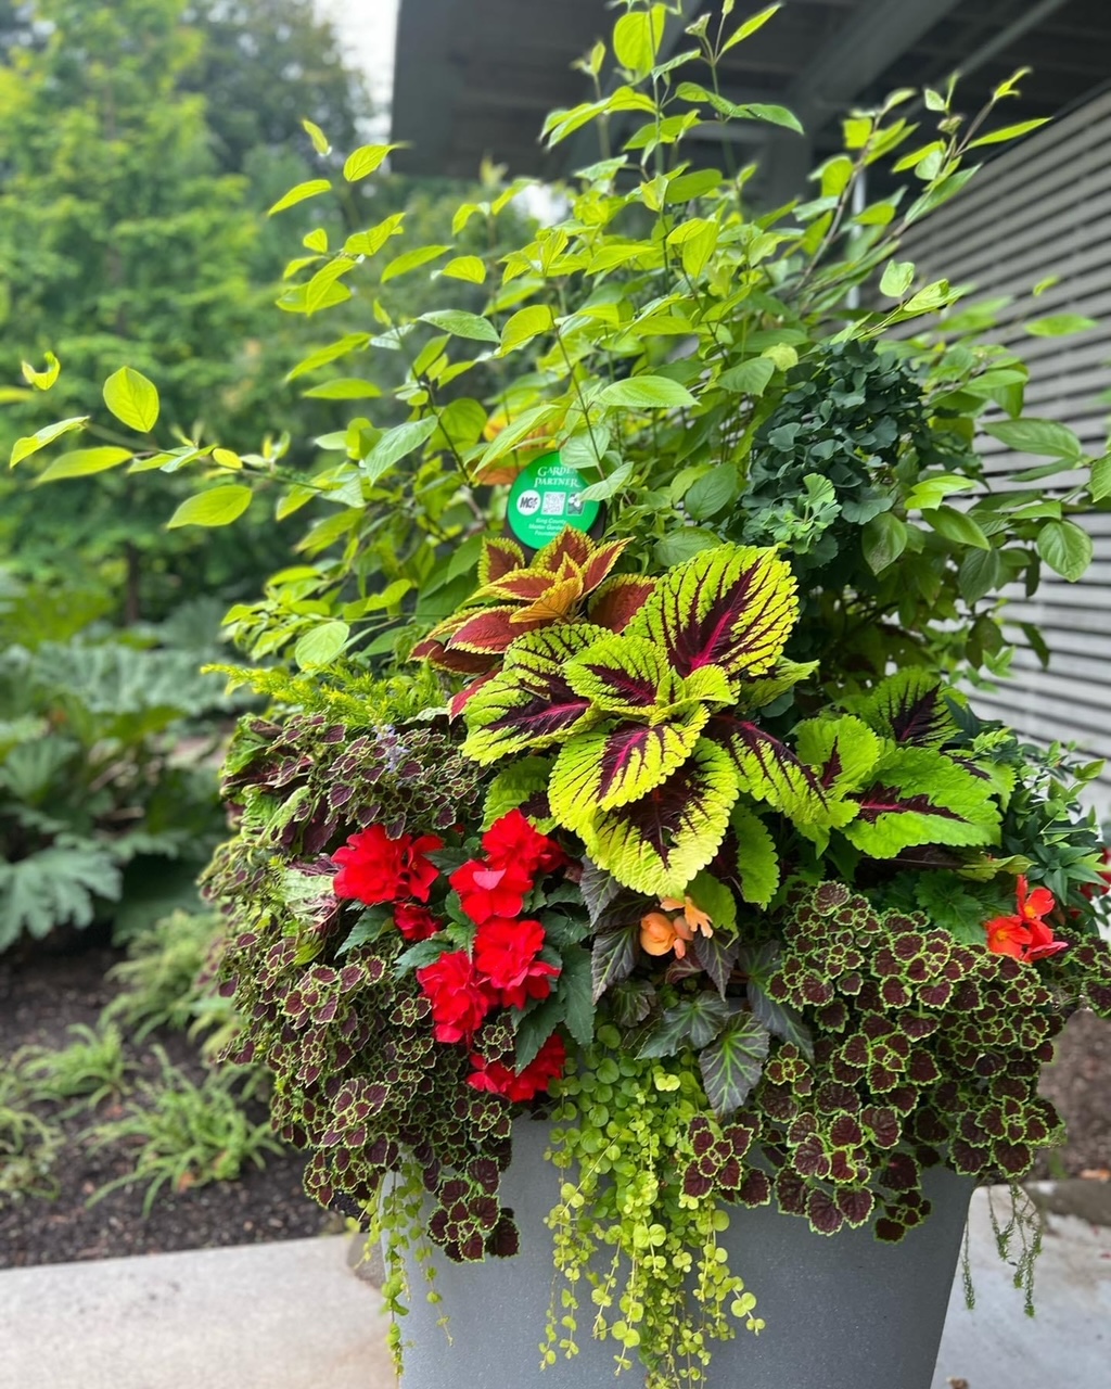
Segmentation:
<svg viewBox="0 0 1111 1389">
<path fill-rule="evenodd" d="M 719 544 L 669 569 L 625 631 L 661 646 L 679 675 L 719 665 L 757 679 L 797 619 L 794 575 L 774 550 Z"/>
</svg>

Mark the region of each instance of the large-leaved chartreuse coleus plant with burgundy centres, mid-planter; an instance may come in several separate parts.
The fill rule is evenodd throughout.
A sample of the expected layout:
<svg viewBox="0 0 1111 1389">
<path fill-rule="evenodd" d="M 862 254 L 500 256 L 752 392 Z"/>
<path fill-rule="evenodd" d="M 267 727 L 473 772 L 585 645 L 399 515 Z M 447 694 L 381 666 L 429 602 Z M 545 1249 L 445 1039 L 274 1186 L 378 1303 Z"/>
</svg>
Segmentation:
<svg viewBox="0 0 1111 1389">
<path fill-rule="evenodd" d="M 840 831 L 871 857 L 990 843 L 992 785 L 929 746 L 950 732 L 933 686 L 897 676 L 858 701 L 860 717 L 807 720 L 790 745 L 761 726 L 760 710 L 815 669 L 783 657 L 797 614 L 774 550 L 703 551 L 657 582 L 622 633 L 564 622 L 518 638 L 467 704 L 464 753 L 489 764 L 558 747 L 551 815 L 647 895 L 682 896 L 735 808 L 737 879 L 746 900 L 760 882 L 754 903 L 768 896 L 768 811 L 819 849 Z"/>
</svg>

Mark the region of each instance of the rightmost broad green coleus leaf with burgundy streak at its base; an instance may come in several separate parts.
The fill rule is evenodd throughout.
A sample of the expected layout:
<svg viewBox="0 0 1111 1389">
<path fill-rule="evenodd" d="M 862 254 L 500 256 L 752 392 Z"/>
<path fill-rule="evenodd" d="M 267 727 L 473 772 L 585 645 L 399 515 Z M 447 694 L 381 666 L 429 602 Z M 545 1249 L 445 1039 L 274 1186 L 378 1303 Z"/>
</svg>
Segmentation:
<svg viewBox="0 0 1111 1389">
<path fill-rule="evenodd" d="M 972 846 L 999 842 L 999 807 L 990 783 L 930 747 L 887 751 L 874 781 L 854 799 L 849 840 L 872 858 L 893 858 L 912 845 Z"/>
</svg>

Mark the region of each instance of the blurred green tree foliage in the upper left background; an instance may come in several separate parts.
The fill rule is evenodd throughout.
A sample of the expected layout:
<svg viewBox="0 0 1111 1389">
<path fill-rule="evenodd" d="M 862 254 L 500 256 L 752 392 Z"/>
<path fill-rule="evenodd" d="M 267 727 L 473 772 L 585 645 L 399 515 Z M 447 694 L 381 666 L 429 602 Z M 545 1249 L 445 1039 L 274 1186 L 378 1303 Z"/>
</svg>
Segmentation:
<svg viewBox="0 0 1111 1389">
<path fill-rule="evenodd" d="M 364 111 L 332 31 L 301 0 L 35 0 L 0 11 L 0 447 L 46 418 L 21 361 L 40 365 L 47 347 L 71 417 L 97 408 L 104 368 L 128 363 L 157 372 L 160 422 L 179 436 L 250 428 L 262 393 L 275 433 L 319 428 L 319 407 L 272 385 L 300 325 L 264 326 L 281 253 L 261 214 L 308 169 L 292 107 L 347 138 Z M 107 574 L 131 619 L 279 563 L 282 539 L 258 528 L 168 542 L 179 493 L 172 478 L 112 478 L 47 503 L 4 482 L 0 539 L 29 574 Z"/>
</svg>

